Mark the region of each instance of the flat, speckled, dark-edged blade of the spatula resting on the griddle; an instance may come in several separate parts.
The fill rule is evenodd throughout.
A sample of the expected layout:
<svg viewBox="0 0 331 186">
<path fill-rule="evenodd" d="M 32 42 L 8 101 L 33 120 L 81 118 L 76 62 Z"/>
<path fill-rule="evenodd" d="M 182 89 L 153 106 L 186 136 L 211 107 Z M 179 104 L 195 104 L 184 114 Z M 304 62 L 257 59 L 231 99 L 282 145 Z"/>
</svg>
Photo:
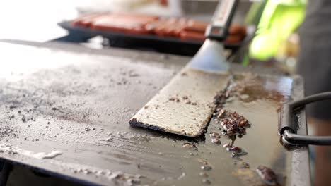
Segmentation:
<svg viewBox="0 0 331 186">
<path fill-rule="evenodd" d="M 214 111 L 214 96 L 228 73 L 184 68 L 129 121 L 130 125 L 197 137 Z"/>
</svg>

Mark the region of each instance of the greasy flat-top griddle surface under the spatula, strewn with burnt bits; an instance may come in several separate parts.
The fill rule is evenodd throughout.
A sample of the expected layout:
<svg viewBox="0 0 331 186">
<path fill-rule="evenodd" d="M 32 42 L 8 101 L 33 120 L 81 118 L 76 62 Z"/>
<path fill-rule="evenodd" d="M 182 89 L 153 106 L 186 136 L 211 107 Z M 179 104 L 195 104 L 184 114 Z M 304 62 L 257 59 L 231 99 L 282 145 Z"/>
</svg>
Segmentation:
<svg viewBox="0 0 331 186">
<path fill-rule="evenodd" d="M 240 158 L 250 164 L 240 168 L 242 161 L 209 135 L 192 140 L 128 125 L 190 58 L 69 44 L 1 42 L 0 49 L 1 159 L 91 185 L 202 185 L 204 179 L 211 185 L 263 185 L 255 173 L 259 165 L 273 168 L 284 184 L 309 185 L 307 149 L 281 147 L 280 99 L 268 96 L 303 97 L 296 77 L 260 75 L 261 83 L 248 87 L 245 97 L 227 101 L 225 109 L 252 123 L 236 140 L 248 151 Z M 240 80 L 240 68 L 233 70 Z M 207 132 L 219 132 L 219 126 L 211 120 Z M 306 123 L 299 132 L 306 132 Z M 182 147 L 187 142 L 197 149 Z M 210 171 L 202 170 L 203 161 Z"/>
</svg>

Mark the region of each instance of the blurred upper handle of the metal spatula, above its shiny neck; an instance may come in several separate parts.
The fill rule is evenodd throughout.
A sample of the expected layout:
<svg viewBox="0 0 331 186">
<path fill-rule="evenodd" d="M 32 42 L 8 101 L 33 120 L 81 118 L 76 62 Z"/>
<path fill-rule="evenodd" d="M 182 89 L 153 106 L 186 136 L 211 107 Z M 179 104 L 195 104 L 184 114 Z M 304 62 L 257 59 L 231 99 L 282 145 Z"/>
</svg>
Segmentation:
<svg viewBox="0 0 331 186">
<path fill-rule="evenodd" d="M 216 8 L 211 23 L 206 30 L 206 37 L 224 41 L 228 35 L 233 14 L 236 11 L 238 0 L 221 0 Z"/>
</svg>

